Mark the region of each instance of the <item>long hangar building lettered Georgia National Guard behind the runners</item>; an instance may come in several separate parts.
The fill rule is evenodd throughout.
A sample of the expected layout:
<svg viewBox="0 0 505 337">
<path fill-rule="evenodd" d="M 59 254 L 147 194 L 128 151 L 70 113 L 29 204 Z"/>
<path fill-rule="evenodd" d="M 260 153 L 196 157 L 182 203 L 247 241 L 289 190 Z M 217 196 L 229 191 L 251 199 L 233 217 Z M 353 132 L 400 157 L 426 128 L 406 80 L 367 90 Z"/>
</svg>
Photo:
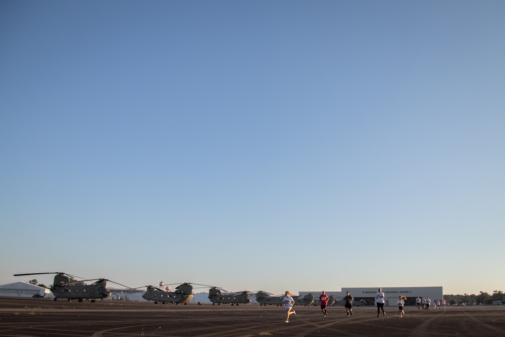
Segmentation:
<svg viewBox="0 0 505 337">
<path fill-rule="evenodd" d="M 355 302 L 360 300 L 365 300 L 365 302 L 374 305 L 375 296 L 378 293 L 379 287 L 367 287 L 367 288 L 341 288 L 340 292 L 326 291 L 326 295 L 333 295 L 337 299 L 343 298 L 345 292 L 354 297 Z M 299 292 L 298 295 L 313 294 L 315 298 L 318 298 L 323 291 L 317 292 Z M 443 300 L 443 292 L 441 286 L 402 286 L 402 287 L 382 287 L 382 292 L 385 295 L 386 306 L 396 306 L 396 301 L 398 301 L 398 296 L 403 295 L 407 298 L 406 305 L 416 305 L 416 298 L 419 296 L 421 300 L 430 298 L 431 305 L 436 300 Z"/>
</svg>

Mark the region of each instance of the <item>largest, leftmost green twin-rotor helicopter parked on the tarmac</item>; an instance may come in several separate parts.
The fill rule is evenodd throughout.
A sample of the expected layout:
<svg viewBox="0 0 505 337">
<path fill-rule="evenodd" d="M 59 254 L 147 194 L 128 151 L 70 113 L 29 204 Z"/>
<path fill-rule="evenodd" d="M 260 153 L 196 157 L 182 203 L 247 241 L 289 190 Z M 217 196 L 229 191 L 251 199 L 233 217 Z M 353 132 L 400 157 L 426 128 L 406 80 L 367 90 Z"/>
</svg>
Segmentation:
<svg viewBox="0 0 505 337">
<path fill-rule="evenodd" d="M 70 277 L 81 277 L 65 274 L 62 272 L 14 274 L 14 276 L 42 274 L 56 274 L 54 282 L 51 285 L 51 288 L 49 288 L 55 296 L 55 301 L 57 299 L 67 299 L 69 302 L 72 300 L 78 300 L 79 302 L 82 302 L 82 300 L 91 300 L 91 302 L 94 303 L 96 299 L 103 300 L 111 296 L 111 292 L 107 289 L 108 280 L 105 278 L 77 281 Z M 86 281 L 96 282 L 93 282 L 91 284 L 84 284 Z"/>
</svg>

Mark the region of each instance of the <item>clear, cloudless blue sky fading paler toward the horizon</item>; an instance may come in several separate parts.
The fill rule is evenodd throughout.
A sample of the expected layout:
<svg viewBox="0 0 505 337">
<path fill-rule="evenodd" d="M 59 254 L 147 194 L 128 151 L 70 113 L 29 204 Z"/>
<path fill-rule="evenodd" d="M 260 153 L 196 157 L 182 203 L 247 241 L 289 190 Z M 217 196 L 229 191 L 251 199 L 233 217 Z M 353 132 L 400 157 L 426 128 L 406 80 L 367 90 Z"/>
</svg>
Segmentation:
<svg viewBox="0 0 505 337">
<path fill-rule="evenodd" d="M 3 0 L 0 284 L 505 291 L 503 13 Z"/>
</svg>

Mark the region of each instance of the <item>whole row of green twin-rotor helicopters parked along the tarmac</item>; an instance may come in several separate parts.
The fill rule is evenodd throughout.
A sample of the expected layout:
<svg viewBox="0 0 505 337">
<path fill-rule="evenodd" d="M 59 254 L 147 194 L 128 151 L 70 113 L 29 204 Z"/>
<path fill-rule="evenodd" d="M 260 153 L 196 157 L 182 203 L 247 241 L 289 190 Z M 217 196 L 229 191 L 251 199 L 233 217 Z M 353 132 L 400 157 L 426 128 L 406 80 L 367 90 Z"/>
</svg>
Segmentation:
<svg viewBox="0 0 505 337">
<path fill-rule="evenodd" d="M 40 275 L 40 274 L 56 274 L 54 282 L 49 288 L 53 295 L 55 296 L 55 301 L 58 299 L 67 299 L 67 301 L 78 300 L 82 302 L 83 300 L 91 300 L 95 302 L 97 299 L 103 300 L 112 295 L 112 293 L 107 288 L 107 281 L 105 278 L 93 279 L 93 280 L 81 280 L 77 281 L 74 278 L 79 278 L 74 275 L 66 274 L 63 272 L 55 273 L 28 273 L 28 274 L 15 274 L 14 276 L 27 276 L 27 275 Z M 71 278 L 72 277 L 72 278 Z M 87 285 L 84 284 L 86 281 L 94 281 L 93 283 Z M 120 283 L 116 283 L 125 286 Z M 231 304 L 239 305 L 250 303 L 252 300 L 249 298 L 249 291 L 240 291 L 236 293 L 227 293 L 219 287 L 209 286 L 205 284 L 196 283 L 182 283 L 175 288 L 174 292 L 163 290 L 153 285 L 146 285 L 138 288 L 130 288 L 130 290 L 138 290 L 140 288 L 146 288 L 143 293 L 142 298 L 147 301 L 153 301 L 155 304 L 162 303 L 173 303 L 173 304 L 187 304 L 193 298 L 193 284 L 210 287 L 209 290 L 209 300 L 213 305 L 218 304 Z M 254 293 L 253 293 L 254 294 Z M 262 305 L 282 305 L 282 299 L 284 295 L 273 296 L 270 293 L 263 291 L 256 292 L 256 301 Z M 292 296 L 295 305 L 319 305 L 319 299 L 314 299 L 314 295 L 308 294 L 305 296 Z M 329 297 L 328 305 L 333 305 L 337 302 L 334 296 Z"/>
</svg>

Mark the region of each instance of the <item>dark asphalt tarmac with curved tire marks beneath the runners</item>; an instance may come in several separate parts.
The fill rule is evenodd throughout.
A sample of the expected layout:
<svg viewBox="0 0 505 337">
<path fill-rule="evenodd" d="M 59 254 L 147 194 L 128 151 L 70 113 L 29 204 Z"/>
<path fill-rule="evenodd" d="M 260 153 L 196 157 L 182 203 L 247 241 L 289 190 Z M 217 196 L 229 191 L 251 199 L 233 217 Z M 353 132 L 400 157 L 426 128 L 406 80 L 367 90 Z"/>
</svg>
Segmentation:
<svg viewBox="0 0 505 337">
<path fill-rule="evenodd" d="M 259 305 L 154 304 L 126 301 L 53 301 L 0 298 L 0 336 L 505 336 L 505 306 L 450 307 L 417 312 L 386 307 L 296 306 L 285 323 L 284 308 Z"/>
</svg>

